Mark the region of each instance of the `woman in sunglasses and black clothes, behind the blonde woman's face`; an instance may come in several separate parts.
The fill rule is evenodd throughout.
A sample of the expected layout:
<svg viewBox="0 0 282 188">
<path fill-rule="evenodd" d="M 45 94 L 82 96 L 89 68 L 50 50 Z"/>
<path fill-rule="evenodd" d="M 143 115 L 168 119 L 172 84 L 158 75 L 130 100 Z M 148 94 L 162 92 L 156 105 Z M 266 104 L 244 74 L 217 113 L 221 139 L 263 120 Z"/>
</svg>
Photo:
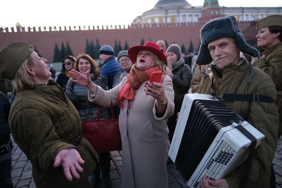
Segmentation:
<svg viewBox="0 0 282 188">
<path fill-rule="evenodd" d="M 59 73 L 56 79 L 58 85 L 64 88 L 64 90 L 66 90 L 67 82 L 70 78 L 68 72 L 74 68 L 74 64 L 75 64 L 75 57 L 71 55 L 64 57 L 62 71 L 61 73 Z"/>
</svg>

